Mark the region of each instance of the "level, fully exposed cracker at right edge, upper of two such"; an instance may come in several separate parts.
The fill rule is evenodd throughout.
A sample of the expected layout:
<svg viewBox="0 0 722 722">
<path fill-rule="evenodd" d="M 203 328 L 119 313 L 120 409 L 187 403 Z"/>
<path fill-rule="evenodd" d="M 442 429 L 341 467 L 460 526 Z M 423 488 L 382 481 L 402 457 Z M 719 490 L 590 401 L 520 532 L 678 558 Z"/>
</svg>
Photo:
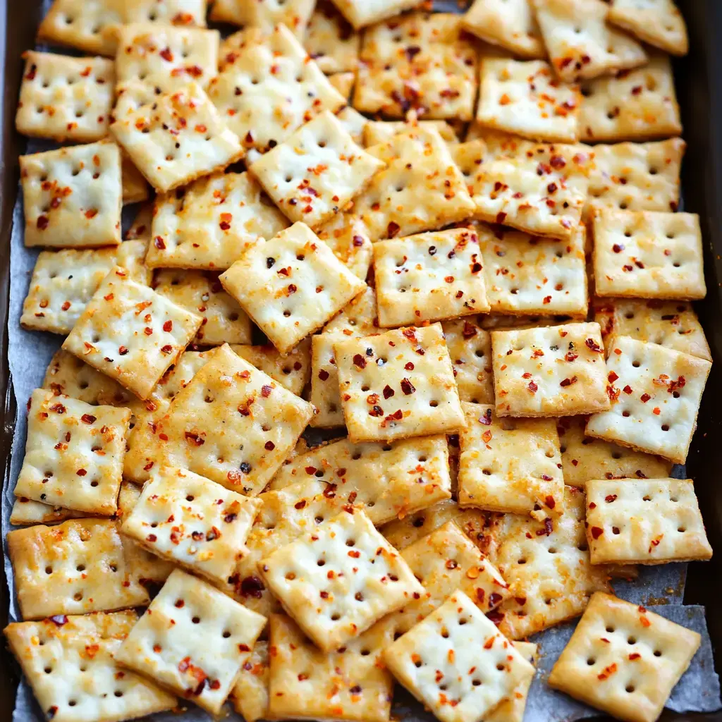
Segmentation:
<svg viewBox="0 0 722 722">
<path fill-rule="evenodd" d="M 707 293 L 696 213 L 598 209 L 593 217 L 599 296 L 695 300 Z"/>
</svg>

